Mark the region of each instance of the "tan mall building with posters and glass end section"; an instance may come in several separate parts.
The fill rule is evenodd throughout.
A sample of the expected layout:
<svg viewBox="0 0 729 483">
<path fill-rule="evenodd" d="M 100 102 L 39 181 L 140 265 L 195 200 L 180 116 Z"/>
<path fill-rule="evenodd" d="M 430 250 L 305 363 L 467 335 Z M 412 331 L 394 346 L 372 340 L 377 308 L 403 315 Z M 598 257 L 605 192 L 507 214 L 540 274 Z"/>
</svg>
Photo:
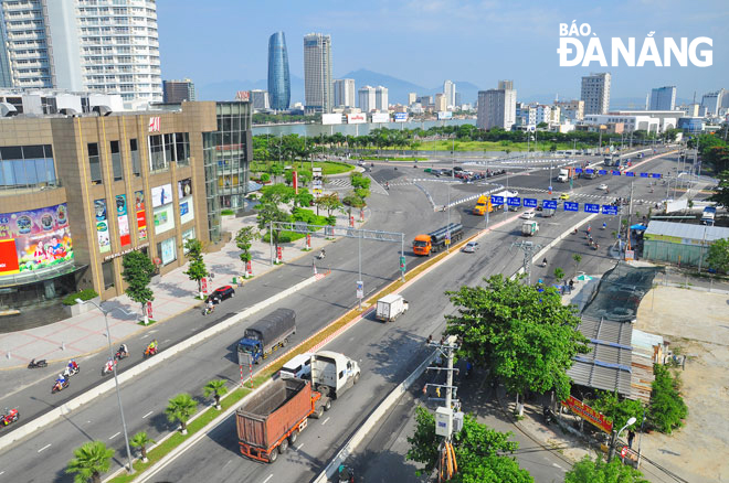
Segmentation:
<svg viewBox="0 0 729 483">
<path fill-rule="evenodd" d="M 93 288 L 124 293 L 122 257 L 159 273 L 183 243 L 220 244 L 220 210 L 241 205 L 251 153 L 249 103 L 0 118 L 0 304 L 57 307 Z M 52 322 L 49 318 L 49 322 Z"/>
</svg>

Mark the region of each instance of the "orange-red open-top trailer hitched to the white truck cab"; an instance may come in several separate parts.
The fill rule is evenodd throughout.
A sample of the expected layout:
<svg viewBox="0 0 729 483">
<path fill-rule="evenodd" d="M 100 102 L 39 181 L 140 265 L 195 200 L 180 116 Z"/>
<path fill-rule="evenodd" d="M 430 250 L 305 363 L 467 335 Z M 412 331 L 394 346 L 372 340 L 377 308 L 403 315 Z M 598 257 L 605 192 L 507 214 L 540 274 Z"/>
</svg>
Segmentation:
<svg viewBox="0 0 729 483">
<path fill-rule="evenodd" d="M 321 417 L 330 405 L 330 399 L 313 390 L 308 380 L 274 380 L 235 411 L 241 453 L 273 463 L 289 443 L 296 442 L 307 418 Z"/>
</svg>

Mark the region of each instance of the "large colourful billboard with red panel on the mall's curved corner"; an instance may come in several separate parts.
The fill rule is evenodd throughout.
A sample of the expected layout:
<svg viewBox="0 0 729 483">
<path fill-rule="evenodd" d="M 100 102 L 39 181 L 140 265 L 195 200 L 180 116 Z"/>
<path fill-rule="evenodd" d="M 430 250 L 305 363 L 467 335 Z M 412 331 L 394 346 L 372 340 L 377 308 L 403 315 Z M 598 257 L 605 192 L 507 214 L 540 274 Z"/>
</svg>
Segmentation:
<svg viewBox="0 0 729 483">
<path fill-rule="evenodd" d="M 0 214 L 0 275 L 40 270 L 72 259 L 65 203 Z"/>
</svg>

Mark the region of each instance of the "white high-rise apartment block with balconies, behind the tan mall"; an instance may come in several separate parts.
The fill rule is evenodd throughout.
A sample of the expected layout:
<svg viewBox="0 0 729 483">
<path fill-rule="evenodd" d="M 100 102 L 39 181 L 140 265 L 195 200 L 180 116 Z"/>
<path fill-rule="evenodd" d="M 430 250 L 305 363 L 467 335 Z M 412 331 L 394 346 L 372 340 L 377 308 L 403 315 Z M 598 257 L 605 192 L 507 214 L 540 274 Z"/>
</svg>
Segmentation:
<svg viewBox="0 0 729 483">
<path fill-rule="evenodd" d="M 3 0 L 0 23 L 0 85 L 162 100 L 155 0 Z"/>
</svg>

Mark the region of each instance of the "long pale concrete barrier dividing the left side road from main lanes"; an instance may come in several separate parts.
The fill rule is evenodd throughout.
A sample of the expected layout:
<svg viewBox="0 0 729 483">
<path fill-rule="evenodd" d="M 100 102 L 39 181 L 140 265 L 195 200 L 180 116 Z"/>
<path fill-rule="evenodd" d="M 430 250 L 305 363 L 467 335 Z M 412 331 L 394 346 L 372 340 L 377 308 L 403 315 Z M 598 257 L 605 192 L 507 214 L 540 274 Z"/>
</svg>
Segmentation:
<svg viewBox="0 0 729 483">
<path fill-rule="evenodd" d="M 133 377 L 145 373 L 149 368 L 156 366 L 157 364 L 160 364 L 165 361 L 167 361 L 170 357 L 176 356 L 180 352 L 235 325 L 237 322 L 242 321 L 243 319 L 253 315 L 254 313 L 265 309 L 266 307 L 285 299 L 286 297 L 297 292 L 298 290 L 314 283 L 317 281 L 316 277 L 309 277 L 308 279 L 289 287 L 288 289 L 282 291 L 281 293 L 271 297 L 266 300 L 263 300 L 255 305 L 251 307 L 250 309 L 244 310 L 243 312 L 240 312 L 232 318 L 210 328 L 207 329 L 199 334 L 180 342 L 179 344 L 168 348 L 167 351 L 162 351 L 156 356 L 144 361 L 142 363 L 136 365 L 135 367 L 131 367 L 128 371 L 125 371 L 124 373 L 118 375 L 118 380 L 119 384 L 124 384 L 127 380 L 131 379 Z M 3 449 L 8 448 L 10 444 L 13 442 L 32 434 L 33 432 L 38 431 L 39 429 L 43 429 L 44 427 L 47 427 L 52 422 L 56 421 L 57 419 L 68 416 L 74 409 L 80 408 L 81 406 L 91 402 L 94 400 L 96 397 L 104 395 L 105 393 L 114 389 L 115 384 L 113 379 L 109 379 L 89 390 L 86 393 L 82 394 L 81 396 L 61 405 L 60 407 L 46 412 L 43 416 L 40 416 L 35 419 L 33 419 L 31 422 L 21 426 L 20 428 L 15 429 L 12 431 L 10 434 L 0 438 L 0 451 Z"/>
</svg>

